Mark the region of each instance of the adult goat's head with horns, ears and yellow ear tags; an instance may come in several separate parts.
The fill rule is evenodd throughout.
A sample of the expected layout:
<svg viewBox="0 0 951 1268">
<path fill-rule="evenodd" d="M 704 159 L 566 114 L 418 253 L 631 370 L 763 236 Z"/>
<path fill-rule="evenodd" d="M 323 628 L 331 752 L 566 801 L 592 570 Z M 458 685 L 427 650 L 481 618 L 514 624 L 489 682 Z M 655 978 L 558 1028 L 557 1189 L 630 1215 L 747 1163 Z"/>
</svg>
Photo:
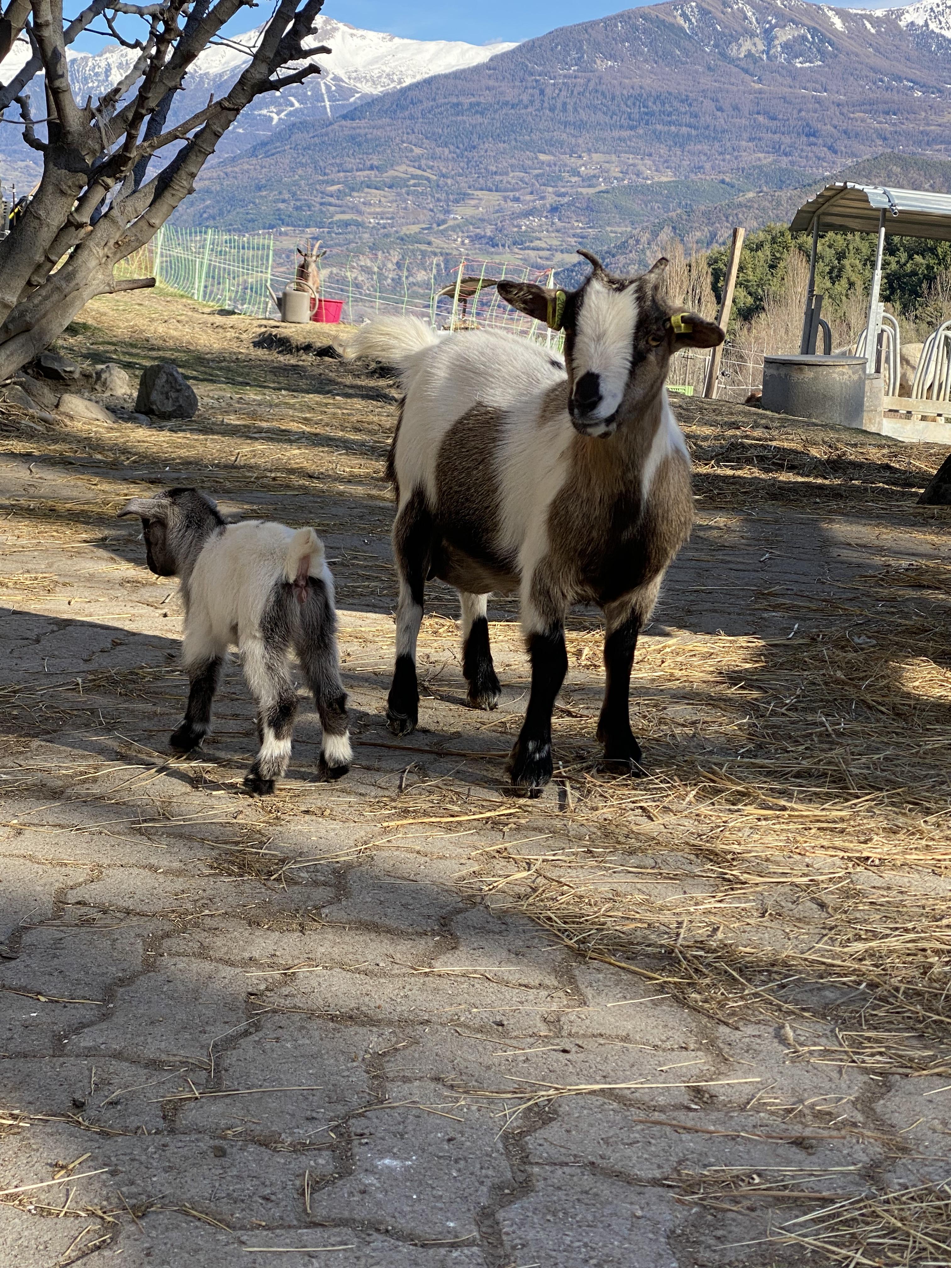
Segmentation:
<svg viewBox="0 0 951 1268">
<path fill-rule="evenodd" d="M 578 251 L 593 271 L 577 290 L 500 281 L 514 308 L 564 331 L 568 411 L 583 436 L 611 436 L 620 408 L 637 408 L 663 385 L 671 356 L 683 347 L 715 347 L 724 333 L 663 294 L 661 257 L 637 278 L 616 278 L 597 256 Z"/>
</svg>

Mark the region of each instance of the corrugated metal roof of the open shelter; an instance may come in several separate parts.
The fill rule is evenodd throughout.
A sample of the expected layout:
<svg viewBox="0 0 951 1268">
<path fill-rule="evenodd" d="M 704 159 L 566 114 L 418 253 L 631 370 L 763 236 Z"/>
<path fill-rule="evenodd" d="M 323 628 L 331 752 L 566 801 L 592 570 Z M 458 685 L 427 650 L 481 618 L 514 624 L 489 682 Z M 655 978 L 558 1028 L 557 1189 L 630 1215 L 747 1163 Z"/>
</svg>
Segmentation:
<svg viewBox="0 0 951 1268">
<path fill-rule="evenodd" d="M 792 217 L 794 231 L 808 231 L 813 217 L 824 230 L 879 232 L 879 212 L 885 210 L 885 232 L 905 237 L 941 238 L 951 242 L 951 194 L 928 194 L 922 189 L 890 189 L 885 185 L 827 185 L 803 203 Z"/>
</svg>

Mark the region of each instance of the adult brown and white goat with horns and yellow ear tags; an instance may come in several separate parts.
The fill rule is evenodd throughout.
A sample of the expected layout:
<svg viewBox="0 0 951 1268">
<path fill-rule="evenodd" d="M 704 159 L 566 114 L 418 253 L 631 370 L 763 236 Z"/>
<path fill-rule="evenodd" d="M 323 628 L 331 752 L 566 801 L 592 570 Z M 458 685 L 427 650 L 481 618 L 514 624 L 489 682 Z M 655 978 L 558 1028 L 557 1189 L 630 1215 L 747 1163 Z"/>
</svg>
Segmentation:
<svg viewBox="0 0 951 1268">
<path fill-rule="evenodd" d="M 500 281 L 521 312 L 564 330 L 564 363 L 510 335 L 439 336 L 413 318 L 358 332 L 350 354 L 401 372 L 404 399 L 389 454 L 399 572 L 392 730 L 417 724 L 416 639 L 424 587 L 459 591 L 468 699 L 495 709 L 492 591 L 519 590 L 531 694 L 508 760 L 516 790 L 552 777 L 552 710 L 568 668 L 564 618 L 578 602 L 606 620 L 607 685 L 597 724 L 605 758 L 640 772 L 628 692 L 638 634 L 687 540 L 690 458 L 664 382 L 673 353 L 723 331 L 670 303 L 666 260 L 638 278 L 593 271 L 577 290 Z"/>
</svg>

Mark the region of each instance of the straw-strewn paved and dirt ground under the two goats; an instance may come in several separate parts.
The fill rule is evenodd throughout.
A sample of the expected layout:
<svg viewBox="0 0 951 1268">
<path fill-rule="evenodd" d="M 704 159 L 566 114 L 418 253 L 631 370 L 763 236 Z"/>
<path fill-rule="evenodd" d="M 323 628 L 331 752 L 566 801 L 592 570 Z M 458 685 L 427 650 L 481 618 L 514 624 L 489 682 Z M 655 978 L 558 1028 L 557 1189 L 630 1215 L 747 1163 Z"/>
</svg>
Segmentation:
<svg viewBox="0 0 951 1268">
<path fill-rule="evenodd" d="M 61 349 L 175 361 L 195 420 L 0 401 L 0 1263 L 951 1264 L 948 512 L 915 505 L 943 453 L 680 402 L 697 525 L 638 649 L 649 775 L 598 768 L 581 611 L 558 776 L 514 800 L 512 604 L 474 713 L 431 587 L 392 737 L 394 383 L 274 335 L 104 298 Z M 170 757 L 180 611 L 115 512 L 181 483 L 325 538 L 347 780 L 304 709 L 243 795 L 236 664 Z"/>
</svg>

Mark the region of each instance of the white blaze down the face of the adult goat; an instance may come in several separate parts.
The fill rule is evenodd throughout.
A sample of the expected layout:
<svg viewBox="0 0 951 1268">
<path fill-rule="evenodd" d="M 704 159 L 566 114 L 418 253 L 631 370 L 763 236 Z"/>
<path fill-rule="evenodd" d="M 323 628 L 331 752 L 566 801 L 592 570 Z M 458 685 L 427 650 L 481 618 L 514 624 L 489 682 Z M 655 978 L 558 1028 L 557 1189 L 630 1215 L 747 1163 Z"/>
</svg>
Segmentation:
<svg viewBox="0 0 951 1268">
<path fill-rule="evenodd" d="M 588 373 L 601 380 L 601 401 L 587 416 L 592 421 L 610 417 L 624 398 L 637 325 L 635 288 L 614 290 L 592 278 L 585 288 L 572 353 L 576 383 Z"/>
</svg>

